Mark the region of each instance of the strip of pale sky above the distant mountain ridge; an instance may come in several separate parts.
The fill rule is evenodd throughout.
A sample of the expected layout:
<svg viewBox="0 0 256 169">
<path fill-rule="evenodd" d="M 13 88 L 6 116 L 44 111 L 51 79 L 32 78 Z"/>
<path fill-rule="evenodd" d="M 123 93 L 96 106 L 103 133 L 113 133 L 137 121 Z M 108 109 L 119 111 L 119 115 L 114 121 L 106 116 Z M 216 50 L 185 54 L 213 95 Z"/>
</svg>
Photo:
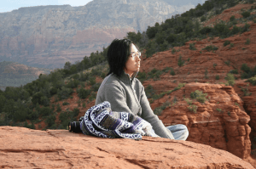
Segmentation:
<svg viewBox="0 0 256 169">
<path fill-rule="evenodd" d="M 21 7 L 69 4 L 73 7 L 84 6 L 92 0 L 0 0 L 0 13 L 11 12 Z"/>
</svg>

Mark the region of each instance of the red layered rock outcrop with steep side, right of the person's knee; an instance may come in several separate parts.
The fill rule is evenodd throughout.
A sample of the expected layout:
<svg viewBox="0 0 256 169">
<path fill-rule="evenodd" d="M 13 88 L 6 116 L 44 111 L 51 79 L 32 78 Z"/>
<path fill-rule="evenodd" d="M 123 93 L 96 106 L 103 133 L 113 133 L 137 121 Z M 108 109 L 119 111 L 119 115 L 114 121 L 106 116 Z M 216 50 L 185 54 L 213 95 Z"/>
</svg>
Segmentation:
<svg viewBox="0 0 256 169">
<path fill-rule="evenodd" d="M 190 98 L 190 93 L 200 90 L 207 93 L 208 101 L 201 104 Z M 176 98 L 176 103 L 173 101 Z M 196 112 L 189 110 L 184 99 L 193 100 Z M 243 109 L 243 101 L 230 86 L 207 83 L 189 83 L 185 87 L 154 101 L 152 108 L 169 103 L 160 120 L 166 126 L 184 124 L 189 129 L 189 141 L 211 145 L 247 158 L 251 153 L 248 126 L 250 116 Z"/>
</svg>

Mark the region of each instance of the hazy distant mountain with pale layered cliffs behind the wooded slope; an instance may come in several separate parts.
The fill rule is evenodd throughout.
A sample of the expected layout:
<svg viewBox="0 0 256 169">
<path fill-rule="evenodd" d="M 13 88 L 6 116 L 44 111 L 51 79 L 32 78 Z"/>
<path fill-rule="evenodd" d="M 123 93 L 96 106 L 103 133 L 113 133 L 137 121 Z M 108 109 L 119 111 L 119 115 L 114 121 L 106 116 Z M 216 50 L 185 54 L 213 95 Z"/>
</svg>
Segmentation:
<svg viewBox="0 0 256 169">
<path fill-rule="evenodd" d="M 94 0 L 85 6 L 38 6 L 0 14 L 0 60 L 63 68 L 113 38 L 195 8 L 205 0 Z"/>
</svg>

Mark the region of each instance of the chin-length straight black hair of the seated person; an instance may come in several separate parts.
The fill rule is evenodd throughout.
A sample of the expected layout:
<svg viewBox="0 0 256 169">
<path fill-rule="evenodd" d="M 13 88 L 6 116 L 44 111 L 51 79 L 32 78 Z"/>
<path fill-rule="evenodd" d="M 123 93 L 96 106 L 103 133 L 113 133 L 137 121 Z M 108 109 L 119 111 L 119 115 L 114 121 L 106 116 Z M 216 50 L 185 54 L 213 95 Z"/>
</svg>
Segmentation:
<svg viewBox="0 0 256 169">
<path fill-rule="evenodd" d="M 131 43 L 129 39 L 114 39 L 111 42 L 107 53 L 109 65 L 108 75 L 113 73 L 120 76 L 124 71 L 125 63 L 131 54 Z"/>
</svg>

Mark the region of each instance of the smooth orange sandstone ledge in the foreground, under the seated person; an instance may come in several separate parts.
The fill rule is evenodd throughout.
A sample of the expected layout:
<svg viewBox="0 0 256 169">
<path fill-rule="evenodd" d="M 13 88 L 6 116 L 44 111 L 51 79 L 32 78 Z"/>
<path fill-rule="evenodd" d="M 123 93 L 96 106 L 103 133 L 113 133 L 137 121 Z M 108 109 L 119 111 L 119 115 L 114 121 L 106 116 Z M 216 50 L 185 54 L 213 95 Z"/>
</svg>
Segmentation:
<svg viewBox="0 0 256 169">
<path fill-rule="evenodd" d="M 221 149 L 167 138 L 96 138 L 67 130 L 0 127 L 1 168 L 253 169 Z"/>
</svg>

